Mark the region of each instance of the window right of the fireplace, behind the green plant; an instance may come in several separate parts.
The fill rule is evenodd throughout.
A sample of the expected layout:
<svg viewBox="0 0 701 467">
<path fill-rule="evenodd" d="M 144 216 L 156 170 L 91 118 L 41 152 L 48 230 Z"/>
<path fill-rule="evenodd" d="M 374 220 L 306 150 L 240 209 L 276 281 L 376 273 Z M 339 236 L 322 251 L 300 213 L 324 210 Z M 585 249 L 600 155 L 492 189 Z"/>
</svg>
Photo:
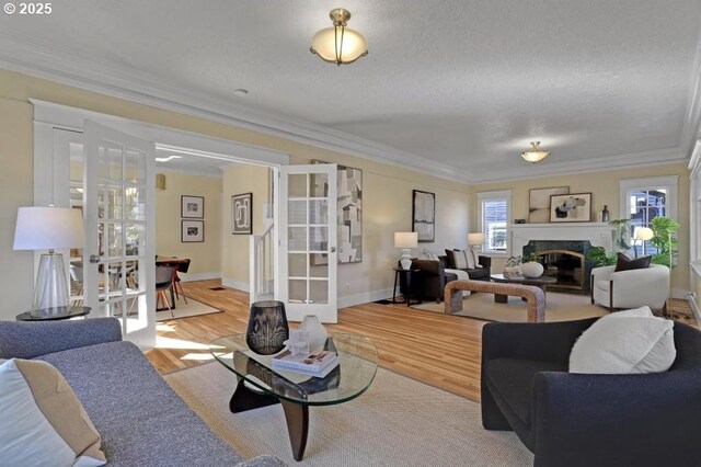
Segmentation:
<svg viewBox="0 0 701 467">
<path fill-rule="evenodd" d="M 621 180 L 621 217 L 631 219 L 631 239 L 636 229 L 650 227 L 655 217 L 677 219 L 677 185 L 676 175 Z M 633 243 L 639 255 L 656 253 L 647 241 Z"/>
</svg>

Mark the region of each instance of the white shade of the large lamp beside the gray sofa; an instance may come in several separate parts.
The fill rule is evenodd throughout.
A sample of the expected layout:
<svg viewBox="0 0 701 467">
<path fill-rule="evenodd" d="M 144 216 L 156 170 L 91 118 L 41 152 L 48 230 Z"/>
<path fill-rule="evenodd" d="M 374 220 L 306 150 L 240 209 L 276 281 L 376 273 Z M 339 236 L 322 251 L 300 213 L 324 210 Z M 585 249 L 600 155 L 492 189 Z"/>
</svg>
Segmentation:
<svg viewBox="0 0 701 467">
<path fill-rule="evenodd" d="M 55 206 L 18 209 L 14 250 L 82 248 L 84 244 L 83 216 L 79 209 Z"/>
</svg>

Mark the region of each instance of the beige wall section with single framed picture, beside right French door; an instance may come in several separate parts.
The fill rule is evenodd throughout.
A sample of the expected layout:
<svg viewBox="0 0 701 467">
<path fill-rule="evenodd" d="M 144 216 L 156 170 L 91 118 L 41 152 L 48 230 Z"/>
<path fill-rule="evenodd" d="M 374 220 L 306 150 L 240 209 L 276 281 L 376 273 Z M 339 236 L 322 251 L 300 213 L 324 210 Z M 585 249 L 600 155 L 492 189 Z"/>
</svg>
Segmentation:
<svg viewBox="0 0 701 467">
<path fill-rule="evenodd" d="M 222 283 L 229 287 L 249 291 L 250 237 L 231 234 L 231 196 L 253 193 L 253 235 L 265 231 L 263 205 L 268 203 L 269 169 L 260 166 L 233 166 L 223 173 L 223 219 L 226 234 L 222 249 Z"/>
</svg>

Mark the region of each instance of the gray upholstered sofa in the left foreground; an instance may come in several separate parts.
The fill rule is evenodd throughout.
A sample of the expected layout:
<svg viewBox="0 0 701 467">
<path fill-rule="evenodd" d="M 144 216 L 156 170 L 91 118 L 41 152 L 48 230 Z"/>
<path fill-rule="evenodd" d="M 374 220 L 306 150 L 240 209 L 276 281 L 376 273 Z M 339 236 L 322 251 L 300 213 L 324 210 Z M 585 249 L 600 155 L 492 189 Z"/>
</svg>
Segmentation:
<svg viewBox="0 0 701 467">
<path fill-rule="evenodd" d="M 0 321 L 0 358 L 12 357 L 43 360 L 64 374 L 100 432 L 110 466 L 285 466 L 273 456 L 245 460 L 217 436 L 143 353 L 122 340 L 115 318 Z"/>
</svg>

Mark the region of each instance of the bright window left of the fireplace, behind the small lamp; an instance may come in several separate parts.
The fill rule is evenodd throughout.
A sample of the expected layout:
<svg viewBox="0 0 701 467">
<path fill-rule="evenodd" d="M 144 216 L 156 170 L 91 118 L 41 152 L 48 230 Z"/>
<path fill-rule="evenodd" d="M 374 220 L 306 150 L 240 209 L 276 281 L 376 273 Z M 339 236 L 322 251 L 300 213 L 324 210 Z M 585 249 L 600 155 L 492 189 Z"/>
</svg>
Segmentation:
<svg viewBox="0 0 701 467">
<path fill-rule="evenodd" d="M 484 234 L 483 251 L 508 254 L 508 219 L 512 210 L 512 192 L 478 193 L 480 208 L 479 229 Z"/>
</svg>

